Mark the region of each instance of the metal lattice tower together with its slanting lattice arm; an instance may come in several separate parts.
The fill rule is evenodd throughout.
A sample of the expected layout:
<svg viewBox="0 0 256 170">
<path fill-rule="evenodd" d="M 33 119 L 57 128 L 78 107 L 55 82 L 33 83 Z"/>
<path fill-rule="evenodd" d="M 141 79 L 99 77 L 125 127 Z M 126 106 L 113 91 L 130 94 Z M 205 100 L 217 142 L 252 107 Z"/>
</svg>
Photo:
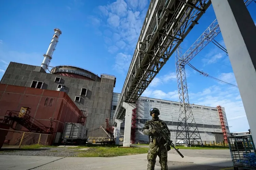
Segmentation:
<svg viewBox="0 0 256 170">
<path fill-rule="evenodd" d="M 254 0 L 244 0 L 244 3 L 248 6 L 253 1 Z M 176 75 L 180 102 L 176 142 L 183 140 L 187 145 L 191 145 L 194 140 L 198 141 L 200 139 L 202 143 L 193 112 L 189 104 L 185 65 L 188 64 L 220 32 L 221 30 L 219 29 L 218 21 L 215 19 L 182 57 L 180 57 L 181 52 L 179 49 L 176 50 Z"/>
</svg>

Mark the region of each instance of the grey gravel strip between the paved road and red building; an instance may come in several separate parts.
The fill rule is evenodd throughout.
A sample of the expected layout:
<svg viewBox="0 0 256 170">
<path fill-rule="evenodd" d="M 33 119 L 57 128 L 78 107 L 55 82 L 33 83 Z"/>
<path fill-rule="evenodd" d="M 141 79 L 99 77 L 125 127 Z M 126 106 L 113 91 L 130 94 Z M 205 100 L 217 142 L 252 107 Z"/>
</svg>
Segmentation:
<svg viewBox="0 0 256 170">
<path fill-rule="evenodd" d="M 79 152 L 78 149 L 66 147 L 39 148 L 39 149 L 1 149 L 0 155 L 22 155 L 22 156 L 57 156 L 57 157 L 74 157 Z"/>
</svg>

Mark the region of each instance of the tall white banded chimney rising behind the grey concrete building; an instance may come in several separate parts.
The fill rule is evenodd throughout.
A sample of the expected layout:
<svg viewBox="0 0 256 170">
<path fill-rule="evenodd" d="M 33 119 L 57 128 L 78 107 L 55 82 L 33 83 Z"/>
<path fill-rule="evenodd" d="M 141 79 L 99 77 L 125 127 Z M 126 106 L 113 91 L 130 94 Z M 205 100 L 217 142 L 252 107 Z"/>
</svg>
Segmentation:
<svg viewBox="0 0 256 170">
<path fill-rule="evenodd" d="M 49 66 L 49 63 L 51 62 L 52 60 L 52 56 L 53 56 L 53 52 L 55 50 L 55 47 L 58 43 L 58 39 L 59 39 L 59 36 L 61 34 L 61 31 L 57 28 L 54 29 L 55 33 L 53 35 L 53 38 L 52 38 L 52 41 L 49 45 L 49 48 L 46 52 L 46 54 L 44 54 L 44 61 L 41 65 L 41 67 L 46 71 L 48 69 L 48 66 Z"/>
</svg>

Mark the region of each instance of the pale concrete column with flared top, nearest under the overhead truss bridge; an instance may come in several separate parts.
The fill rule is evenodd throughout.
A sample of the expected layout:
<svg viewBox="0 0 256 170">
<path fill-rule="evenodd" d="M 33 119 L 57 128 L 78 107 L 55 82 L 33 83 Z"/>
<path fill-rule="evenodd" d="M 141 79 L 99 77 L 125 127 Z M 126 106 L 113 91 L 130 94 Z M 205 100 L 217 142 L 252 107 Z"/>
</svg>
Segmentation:
<svg viewBox="0 0 256 170">
<path fill-rule="evenodd" d="M 130 147 L 131 143 L 131 116 L 132 109 L 136 107 L 133 103 L 123 103 L 123 107 L 126 109 L 125 114 L 125 131 L 124 131 L 124 147 Z"/>
</svg>

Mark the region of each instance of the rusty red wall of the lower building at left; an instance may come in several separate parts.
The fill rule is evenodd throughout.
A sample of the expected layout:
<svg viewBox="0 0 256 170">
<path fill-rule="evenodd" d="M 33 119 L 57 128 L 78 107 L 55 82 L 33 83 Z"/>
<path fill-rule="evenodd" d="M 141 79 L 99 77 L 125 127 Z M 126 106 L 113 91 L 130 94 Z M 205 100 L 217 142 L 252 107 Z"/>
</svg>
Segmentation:
<svg viewBox="0 0 256 170">
<path fill-rule="evenodd" d="M 77 123 L 82 115 L 66 92 L 0 84 L 0 121 L 6 111 L 20 111 L 22 106 L 31 108 L 33 121 L 39 121 L 47 127 L 51 124 L 49 118 L 54 119 L 51 143 L 56 132 L 63 131 L 65 122 Z M 10 135 L 7 137 L 11 138 Z"/>
</svg>

